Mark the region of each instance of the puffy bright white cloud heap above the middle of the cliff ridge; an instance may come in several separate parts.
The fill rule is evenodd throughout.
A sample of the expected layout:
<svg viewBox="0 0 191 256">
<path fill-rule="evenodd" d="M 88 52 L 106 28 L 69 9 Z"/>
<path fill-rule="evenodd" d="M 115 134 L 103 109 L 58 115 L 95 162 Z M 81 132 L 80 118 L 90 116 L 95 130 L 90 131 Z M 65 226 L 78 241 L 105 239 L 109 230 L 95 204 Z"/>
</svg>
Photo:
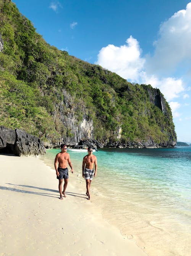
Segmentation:
<svg viewBox="0 0 191 256">
<path fill-rule="evenodd" d="M 126 45 L 120 47 L 108 45 L 98 54 L 96 64 L 107 68 L 125 79 L 138 81 L 139 73 L 144 66 L 144 59 L 140 57 L 139 43 L 133 36 L 126 40 Z"/>
</svg>

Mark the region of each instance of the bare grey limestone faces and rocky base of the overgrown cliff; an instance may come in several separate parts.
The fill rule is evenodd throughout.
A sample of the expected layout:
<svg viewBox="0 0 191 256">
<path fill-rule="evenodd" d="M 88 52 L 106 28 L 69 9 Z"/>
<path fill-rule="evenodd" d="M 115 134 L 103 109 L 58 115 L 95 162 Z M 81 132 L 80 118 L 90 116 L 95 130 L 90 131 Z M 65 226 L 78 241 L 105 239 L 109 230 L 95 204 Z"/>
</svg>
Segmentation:
<svg viewBox="0 0 191 256">
<path fill-rule="evenodd" d="M 149 100 L 152 104 L 159 107 L 165 116 L 169 119 L 169 111 L 167 109 L 167 102 L 159 89 L 146 88 L 149 94 Z M 49 144 L 49 147 L 57 147 L 61 143 L 67 145 L 87 145 L 91 147 L 129 147 L 129 148 L 157 148 L 157 147 L 174 147 L 176 145 L 176 134 L 174 127 L 172 127 L 172 134 L 168 134 L 168 141 L 157 144 L 152 138 L 148 138 L 146 141 L 139 142 L 129 142 L 123 143 L 121 141 L 121 127 L 118 127 L 113 133 L 117 135 L 118 141 L 106 141 L 105 143 L 100 143 L 97 140 L 94 140 L 94 125 L 92 120 L 88 120 L 86 117 L 86 110 L 83 106 L 80 106 L 81 112 L 83 113 L 82 121 L 78 121 L 76 118 L 76 108 L 78 104 L 74 104 L 74 99 L 67 94 L 66 91 L 63 91 L 64 101 L 60 103 L 59 106 L 56 106 L 57 111 L 59 112 L 60 121 L 70 130 L 70 134 L 63 136 L 57 144 Z M 55 113 L 53 114 L 55 115 Z M 172 123 L 173 126 L 173 123 Z M 161 127 L 161 130 L 163 127 Z"/>
</svg>

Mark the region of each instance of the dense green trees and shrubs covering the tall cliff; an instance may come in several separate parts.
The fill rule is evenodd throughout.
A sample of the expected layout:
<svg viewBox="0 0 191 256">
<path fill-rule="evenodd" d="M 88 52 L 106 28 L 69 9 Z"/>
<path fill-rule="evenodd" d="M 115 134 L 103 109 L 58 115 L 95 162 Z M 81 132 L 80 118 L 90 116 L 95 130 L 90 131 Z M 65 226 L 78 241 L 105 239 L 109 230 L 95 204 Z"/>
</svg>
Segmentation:
<svg viewBox="0 0 191 256">
<path fill-rule="evenodd" d="M 10 0 L 0 0 L 0 124 L 41 139 L 72 137 L 60 118 L 73 113 L 76 126 L 93 120 L 94 139 L 156 143 L 176 141 L 172 114 L 151 101 L 151 86 L 131 84 L 98 65 L 47 44 Z M 66 104 L 64 95 L 69 100 Z M 70 100 L 71 99 L 71 100 Z"/>
</svg>

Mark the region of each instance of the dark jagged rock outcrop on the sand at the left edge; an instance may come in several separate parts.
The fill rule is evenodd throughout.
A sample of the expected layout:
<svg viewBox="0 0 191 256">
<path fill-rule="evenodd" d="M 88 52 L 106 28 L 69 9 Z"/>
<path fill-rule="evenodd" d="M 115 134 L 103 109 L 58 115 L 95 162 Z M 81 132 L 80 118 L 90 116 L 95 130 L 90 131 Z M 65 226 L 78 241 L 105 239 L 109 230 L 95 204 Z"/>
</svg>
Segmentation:
<svg viewBox="0 0 191 256">
<path fill-rule="evenodd" d="M 23 130 L 11 130 L 0 126 L 0 153 L 17 156 L 37 156 L 45 154 L 43 142 Z"/>
</svg>

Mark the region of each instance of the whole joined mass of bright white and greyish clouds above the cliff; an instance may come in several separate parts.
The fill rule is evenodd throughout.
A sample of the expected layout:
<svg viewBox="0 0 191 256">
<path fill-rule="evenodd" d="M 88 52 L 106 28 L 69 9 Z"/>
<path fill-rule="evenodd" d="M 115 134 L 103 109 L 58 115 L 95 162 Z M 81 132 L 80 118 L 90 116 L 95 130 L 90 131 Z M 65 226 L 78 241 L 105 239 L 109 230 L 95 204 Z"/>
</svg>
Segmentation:
<svg viewBox="0 0 191 256">
<path fill-rule="evenodd" d="M 154 42 L 154 55 L 141 56 L 139 42 L 130 36 L 122 46 L 107 45 L 97 56 L 97 62 L 125 79 L 136 83 L 151 84 L 159 88 L 167 101 L 183 96 L 183 78 L 177 77 L 176 69 L 191 66 L 191 3 L 185 10 L 176 12 L 163 22 L 159 38 Z M 186 61 L 185 61 L 186 60 Z M 185 65 L 185 66 L 183 66 Z M 179 69 L 179 73 L 181 72 Z M 184 94 L 183 98 L 189 97 Z"/>
</svg>

